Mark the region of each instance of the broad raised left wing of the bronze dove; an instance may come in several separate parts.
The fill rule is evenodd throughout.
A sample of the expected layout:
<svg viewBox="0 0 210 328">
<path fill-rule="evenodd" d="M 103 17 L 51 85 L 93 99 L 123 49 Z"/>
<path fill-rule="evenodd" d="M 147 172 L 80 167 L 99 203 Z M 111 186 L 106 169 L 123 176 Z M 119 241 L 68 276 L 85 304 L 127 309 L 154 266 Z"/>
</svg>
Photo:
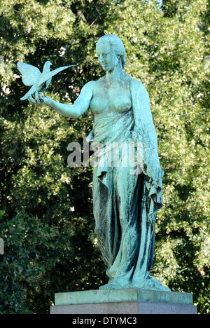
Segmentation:
<svg viewBox="0 0 210 328">
<path fill-rule="evenodd" d="M 25 62 L 18 62 L 17 66 L 22 74 L 22 82 L 25 86 L 33 86 L 41 77 L 41 71 L 35 66 L 26 64 Z"/>
</svg>

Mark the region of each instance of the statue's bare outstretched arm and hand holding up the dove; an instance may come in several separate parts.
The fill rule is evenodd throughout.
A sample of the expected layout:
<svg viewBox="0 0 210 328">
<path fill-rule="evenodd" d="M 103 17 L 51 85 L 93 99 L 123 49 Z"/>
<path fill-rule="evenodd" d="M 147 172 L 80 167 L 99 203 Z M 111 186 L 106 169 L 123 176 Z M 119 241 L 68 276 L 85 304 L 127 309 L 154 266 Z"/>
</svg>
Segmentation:
<svg viewBox="0 0 210 328">
<path fill-rule="evenodd" d="M 80 115 L 85 113 L 90 107 L 90 102 L 92 100 L 92 83 L 88 82 L 83 86 L 80 95 L 73 104 L 62 104 L 61 102 L 56 102 L 50 97 L 41 97 L 39 100 L 34 100 L 34 98 L 29 97 L 29 101 L 40 104 L 46 104 L 50 108 L 55 109 L 57 113 L 70 118 L 78 118 Z"/>
</svg>

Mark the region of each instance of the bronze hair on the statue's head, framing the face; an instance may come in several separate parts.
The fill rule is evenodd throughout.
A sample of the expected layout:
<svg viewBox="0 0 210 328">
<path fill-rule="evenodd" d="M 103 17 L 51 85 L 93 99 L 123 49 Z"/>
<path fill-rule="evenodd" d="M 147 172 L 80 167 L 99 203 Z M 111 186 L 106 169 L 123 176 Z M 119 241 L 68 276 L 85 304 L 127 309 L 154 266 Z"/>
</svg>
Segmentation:
<svg viewBox="0 0 210 328">
<path fill-rule="evenodd" d="M 116 54 L 116 57 L 120 57 L 122 67 L 125 67 L 125 47 L 123 45 L 123 41 L 118 36 L 113 34 L 102 36 L 96 43 L 96 49 L 100 46 L 107 46 L 107 48 L 111 48 Z"/>
</svg>

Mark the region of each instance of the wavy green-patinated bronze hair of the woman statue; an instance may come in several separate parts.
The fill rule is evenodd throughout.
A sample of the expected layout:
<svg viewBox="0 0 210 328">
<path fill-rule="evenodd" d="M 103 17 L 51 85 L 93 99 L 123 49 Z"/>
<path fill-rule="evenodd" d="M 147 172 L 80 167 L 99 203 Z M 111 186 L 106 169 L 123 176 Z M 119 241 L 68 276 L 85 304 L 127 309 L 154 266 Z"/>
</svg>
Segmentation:
<svg viewBox="0 0 210 328">
<path fill-rule="evenodd" d="M 111 47 L 113 48 L 116 55 L 120 56 L 122 66 L 124 68 L 125 67 L 125 62 L 126 62 L 126 59 L 125 59 L 126 53 L 125 53 L 125 47 L 123 45 L 123 41 L 118 36 L 113 35 L 113 34 L 108 34 L 108 35 L 102 36 L 97 41 L 97 43 L 103 42 L 103 41 L 108 42 L 111 45 Z M 97 45 L 97 43 L 96 43 L 96 45 Z"/>
</svg>

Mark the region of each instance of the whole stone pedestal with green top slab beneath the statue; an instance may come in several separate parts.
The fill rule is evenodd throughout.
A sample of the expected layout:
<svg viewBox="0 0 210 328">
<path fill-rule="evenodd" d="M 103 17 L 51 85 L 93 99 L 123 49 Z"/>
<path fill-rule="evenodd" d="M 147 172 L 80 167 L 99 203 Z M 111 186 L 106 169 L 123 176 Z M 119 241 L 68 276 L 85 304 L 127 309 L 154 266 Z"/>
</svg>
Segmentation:
<svg viewBox="0 0 210 328">
<path fill-rule="evenodd" d="M 55 294 L 50 314 L 197 314 L 197 308 L 189 293 L 100 289 Z"/>
</svg>

